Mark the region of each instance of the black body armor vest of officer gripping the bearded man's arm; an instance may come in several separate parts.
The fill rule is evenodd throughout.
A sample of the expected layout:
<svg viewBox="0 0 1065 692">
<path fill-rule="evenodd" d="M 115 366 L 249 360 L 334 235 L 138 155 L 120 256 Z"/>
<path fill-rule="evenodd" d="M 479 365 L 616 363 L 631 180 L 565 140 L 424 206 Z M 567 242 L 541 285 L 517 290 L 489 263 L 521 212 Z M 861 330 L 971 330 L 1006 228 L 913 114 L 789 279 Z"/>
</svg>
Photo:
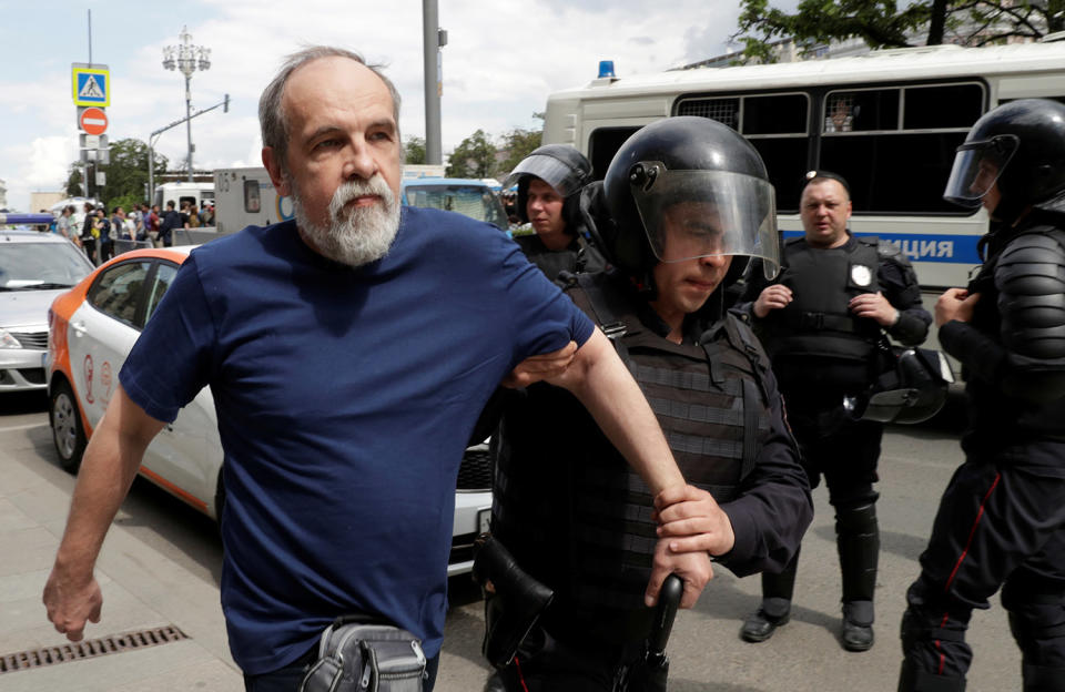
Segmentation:
<svg viewBox="0 0 1065 692">
<path fill-rule="evenodd" d="M 719 502 L 736 497 L 769 435 L 769 359 L 757 339 L 739 319 L 727 316 L 707 332 L 703 344 L 672 344 L 622 304 L 619 297 L 629 294 L 620 284 L 605 286 L 612 279 L 602 274 L 577 278 L 580 288 L 571 297 L 611 337 L 686 480 Z M 535 388 L 529 388 L 530 398 L 565 395 L 576 404 L 564 390 L 545 387 L 554 391 L 534 395 Z M 558 414 L 560 404 L 542 400 L 527 413 L 550 406 Z M 582 622 L 598 637 L 632 641 L 646 634 L 651 617 L 642 598 L 658 541 L 653 498 L 579 404 L 562 415 L 579 423 L 582 439 L 575 439 L 576 431 L 556 435 L 552 428 L 508 436 L 516 424 L 539 421 L 506 417 L 503 437 L 509 439 L 498 457 L 493 531 L 526 569 L 538 571 L 539 566 L 527 562 L 536 557 L 555 566 L 537 576 L 557 590 L 552 610 L 564 628 Z M 534 438 L 549 442 L 537 445 L 537 457 L 518 447 L 519 440 Z M 545 464 L 552 472 L 545 472 Z M 530 467 L 536 470 L 529 472 Z M 542 491 L 534 490 L 518 480 L 532 475 L 549 487 L 541 480 Z M 526 551 L 526 543 L 539 548 Z M 546 618 L 550 622 L 551 612 Z"/>
</svg>

